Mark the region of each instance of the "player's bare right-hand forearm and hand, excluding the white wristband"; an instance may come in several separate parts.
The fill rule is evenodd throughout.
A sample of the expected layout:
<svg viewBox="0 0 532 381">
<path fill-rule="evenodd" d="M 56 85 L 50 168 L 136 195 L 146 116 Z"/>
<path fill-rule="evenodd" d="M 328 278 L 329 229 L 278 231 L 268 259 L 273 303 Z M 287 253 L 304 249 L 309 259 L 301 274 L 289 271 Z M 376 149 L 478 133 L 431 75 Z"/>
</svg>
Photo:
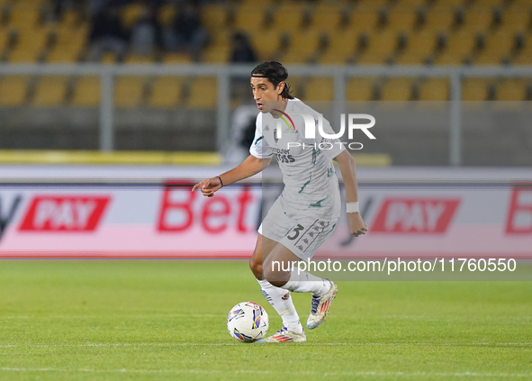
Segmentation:
<svg viewBox="0 0 532 381">
<path fill-rule="evenodd" d="M 337 161 L 338 165 L 340 166 L 340 172 L 342 173 L 344 184 L 346 185 L 347 203 L 357 203 L 358 186 L 356 185 L 355 159 L 353 159 L 347 150 L 342 150 L 342 152 L 338 154 L 334 160 Z M 367 226 L 362 220 L 360 212 L 347 213 L 347 220 L 349 222 L 349 231 L 351 231 L 351 234 L 353 234 L 355 237 L 365 234 L 367 231 Z"/>
</svg>

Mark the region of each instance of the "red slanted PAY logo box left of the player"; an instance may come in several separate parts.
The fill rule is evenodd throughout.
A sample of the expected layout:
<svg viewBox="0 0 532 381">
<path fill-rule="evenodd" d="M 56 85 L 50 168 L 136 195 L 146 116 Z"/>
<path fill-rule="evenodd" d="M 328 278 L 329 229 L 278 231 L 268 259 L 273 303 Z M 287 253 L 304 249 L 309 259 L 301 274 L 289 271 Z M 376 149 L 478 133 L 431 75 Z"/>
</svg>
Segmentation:
<svg viewBox="0 0 532 381">
<path fill-rule="evenodd" d="M 109 196 L 37 195 L 20 231 L 95 231 Z"/>
</svg>

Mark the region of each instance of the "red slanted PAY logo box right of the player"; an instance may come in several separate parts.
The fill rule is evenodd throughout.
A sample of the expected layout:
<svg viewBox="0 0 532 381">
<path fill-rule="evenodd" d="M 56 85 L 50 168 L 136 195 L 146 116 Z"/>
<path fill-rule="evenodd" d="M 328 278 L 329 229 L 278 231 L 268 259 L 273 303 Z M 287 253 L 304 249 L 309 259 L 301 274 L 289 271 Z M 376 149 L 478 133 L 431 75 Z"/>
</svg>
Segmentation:
<svg viewBox="0 0 532 381">
<path fill-rule="evenodd" d="M 370 231 L 444 233 L 459 204 L 455 198 L 388 198 Z"/>
</svg>

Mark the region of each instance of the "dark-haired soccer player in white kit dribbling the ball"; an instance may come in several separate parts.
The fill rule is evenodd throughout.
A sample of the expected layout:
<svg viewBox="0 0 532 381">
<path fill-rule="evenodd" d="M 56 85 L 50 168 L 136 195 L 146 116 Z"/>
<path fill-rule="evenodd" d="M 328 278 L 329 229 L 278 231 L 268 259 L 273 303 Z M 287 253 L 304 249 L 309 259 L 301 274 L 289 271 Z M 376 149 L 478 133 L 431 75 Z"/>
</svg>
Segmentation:
<svg viewBox="0 0 532 381">
<path fill-rule="evenodd" d="M 325 321 L 338 292 L 338 286 L 329 279 L 297 268 L 290 271 L 293 261 L 312 258 L 338 222 L 340 192 L 332 160 L 338 162 L 346 186 L 349 230 L 354 236 L 367 231 L 358 212 L 355 160 L 338 140 L 324 139 L 319 133 L 315 139 L 305 138 L 302 114 L 311 115 L 315 125 L 321 115 L 290 95 L 287 77 L 286 68 L 276 61 L 253 69 L 250 84 L 260 113 L 250 155 L 238 167 L 205 179 L 192 189 L 199 188 L 203 195 L 212 197 L 222 186 L 262 171 L 274 156 L 279 163 L 284 190 L 258 228 L 257 246 L 249 259 L 262 294 L 283 319 L 283 328 L 262 340 L 266 342 L 306 341 L 291 291 L 312 294 L 307 321 L 310 330 Z M 335 133 L 329 122 L 322 121 L 324 132 Z"/>
</svg>

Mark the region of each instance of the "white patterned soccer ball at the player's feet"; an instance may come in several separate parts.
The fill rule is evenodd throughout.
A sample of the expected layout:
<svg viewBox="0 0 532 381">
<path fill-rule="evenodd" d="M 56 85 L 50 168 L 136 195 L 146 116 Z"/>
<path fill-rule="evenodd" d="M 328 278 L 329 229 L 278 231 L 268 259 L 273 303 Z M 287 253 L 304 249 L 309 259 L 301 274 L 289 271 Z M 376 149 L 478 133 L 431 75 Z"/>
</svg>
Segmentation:
<svg viewBox="0 0 532 381">
<path fill-rule="evenodd" d="M 268 324 L 268 314 L 264 308 L 253 302 L 239 303 L 227 315 L 227 330 L 237 341 L 262 339 L 268 331 Z"/>
</svg>

